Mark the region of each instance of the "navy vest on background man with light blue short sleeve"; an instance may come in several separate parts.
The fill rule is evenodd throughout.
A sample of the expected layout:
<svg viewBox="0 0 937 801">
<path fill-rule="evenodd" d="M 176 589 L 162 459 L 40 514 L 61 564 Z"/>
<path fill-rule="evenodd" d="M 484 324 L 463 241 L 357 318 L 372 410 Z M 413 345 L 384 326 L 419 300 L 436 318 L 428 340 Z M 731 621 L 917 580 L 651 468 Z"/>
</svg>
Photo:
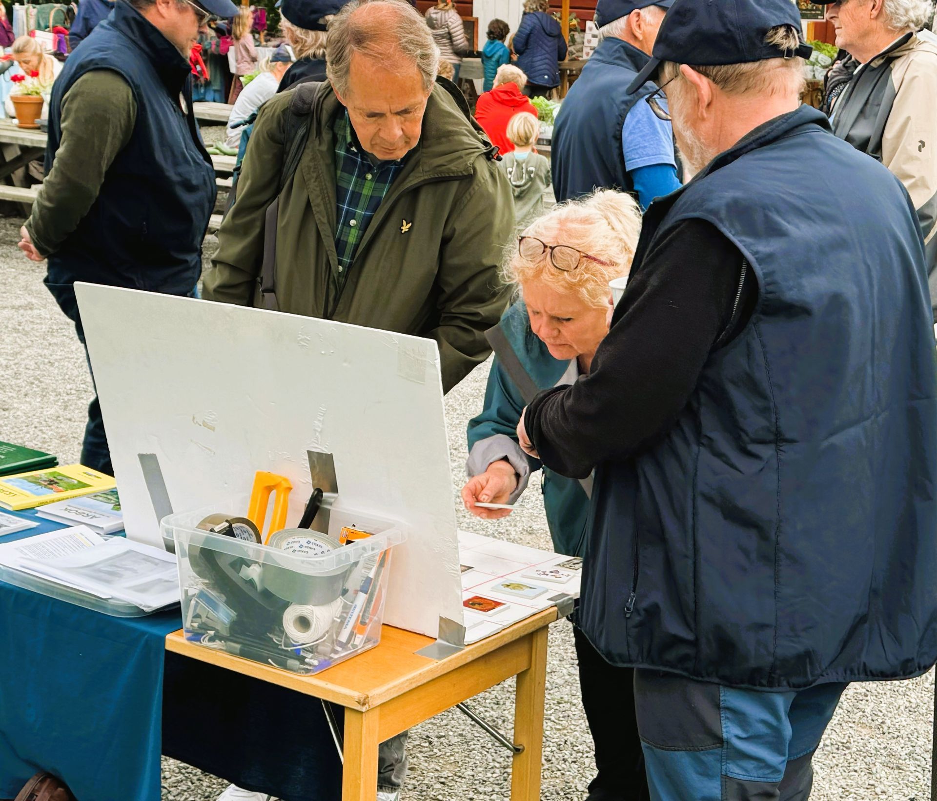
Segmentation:
<svg viewBox="0 0 937 801">
<path fill-rule="evenodd" d="M 551 144 L 558 202 L 587 195 L 596 187 L 633 191 L 621 149 L 621 126 L 638 100 L 657 91 L 648 82 L 628 94 L 628 86 L 648 60 L 628 42 L 604 38 L 570 87 Z"/>
</svg>

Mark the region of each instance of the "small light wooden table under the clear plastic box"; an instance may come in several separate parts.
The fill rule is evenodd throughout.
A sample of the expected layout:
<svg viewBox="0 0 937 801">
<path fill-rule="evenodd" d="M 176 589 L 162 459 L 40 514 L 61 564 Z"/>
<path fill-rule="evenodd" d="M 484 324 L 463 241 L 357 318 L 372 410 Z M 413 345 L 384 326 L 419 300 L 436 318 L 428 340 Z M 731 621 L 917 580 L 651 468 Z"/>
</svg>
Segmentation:
<svg viewBox="0 0 937 801">
<path fill-rule="evenodd" d="M 301 676 L 186 640 L 166 638 L 166 649 L 345 707 L 342 801 L 374 801 L 378 746 L 483 690 L 517 676 L 512 801 L 539 801 L 543 756 L 543 698 L 547 629 L 556 607 L 528 617 L 444 660 L 417 653 L 433 640 L 384 626 L 380 645 L 320 675 Z"/>
</svg>

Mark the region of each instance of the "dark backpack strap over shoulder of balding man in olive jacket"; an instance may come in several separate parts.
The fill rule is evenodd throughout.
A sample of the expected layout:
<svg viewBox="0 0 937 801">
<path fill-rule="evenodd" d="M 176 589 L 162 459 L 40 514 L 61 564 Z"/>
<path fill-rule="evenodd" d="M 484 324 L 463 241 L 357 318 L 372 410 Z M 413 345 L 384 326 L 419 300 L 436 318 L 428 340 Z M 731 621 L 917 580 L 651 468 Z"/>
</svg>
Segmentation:
<svg viewBox="0 0 937 801">
<path fill-rule="evenodd" d="M 309 140 L 312 107 L 319 94 L 321 82 L 300 83 L 293 90 L 283 131 L 283 162 L 280 167 L 280 188 L 263 215 L 263 259 L 260 262 L 260 305 L 265 309 L 279 309 L 276 301 L 276 224 L 279 217 L 280 194 L 299 167 Z"/>
</svg>

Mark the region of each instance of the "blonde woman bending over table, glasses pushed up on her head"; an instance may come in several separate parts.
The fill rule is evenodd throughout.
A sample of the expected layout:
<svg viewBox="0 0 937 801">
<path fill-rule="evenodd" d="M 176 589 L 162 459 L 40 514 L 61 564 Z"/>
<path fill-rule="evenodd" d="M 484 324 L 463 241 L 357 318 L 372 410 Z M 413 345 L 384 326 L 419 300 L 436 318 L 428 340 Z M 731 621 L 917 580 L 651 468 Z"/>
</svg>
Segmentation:
<svg viewBox="0 0 937 801">
<path fill-rule="evenodd" d="M 585 375 L 608 333 L 608 282 L 628 274 L 641 228 L 630 195 L 602 190 L 535 220 L 514 247 L 505 280 L 519 287 L 488 332 L 495 361 L 482 413 L 468 423 L 468 483 L 462 499 L 484 519 L 511 514 L 479 501 L 513 503 L 532 470 L 543 472 L 543 506 L 554 549 L 584 556 L 591 480 L 558 475 L 521 451 L 517 423 L 530 397 Z M 595 742 L 598 776 L 588 801 L 648 797 L 637 733 L 632 673 L 609 665 L 573 624 L 583 706 Z"/>
</svg>

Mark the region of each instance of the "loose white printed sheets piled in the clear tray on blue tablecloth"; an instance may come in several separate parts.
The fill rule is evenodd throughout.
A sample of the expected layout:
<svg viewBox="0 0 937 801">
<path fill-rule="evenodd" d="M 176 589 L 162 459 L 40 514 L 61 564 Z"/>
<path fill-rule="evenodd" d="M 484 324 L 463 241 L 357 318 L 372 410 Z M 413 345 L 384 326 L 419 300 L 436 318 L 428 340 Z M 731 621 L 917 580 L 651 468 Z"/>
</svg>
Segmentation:
<svg viewBox="0 0 937 801">
<path fill-rule="evenodd" d="M 80 598 L 130 604 L 143 613 L 179 601 L 175 556 L 123 537 L 105 540 L 85 526 L 0 544 L 0 569 L 11 584 L 27 586 L 22 576 L 35 576 Z"/>
</svg>

